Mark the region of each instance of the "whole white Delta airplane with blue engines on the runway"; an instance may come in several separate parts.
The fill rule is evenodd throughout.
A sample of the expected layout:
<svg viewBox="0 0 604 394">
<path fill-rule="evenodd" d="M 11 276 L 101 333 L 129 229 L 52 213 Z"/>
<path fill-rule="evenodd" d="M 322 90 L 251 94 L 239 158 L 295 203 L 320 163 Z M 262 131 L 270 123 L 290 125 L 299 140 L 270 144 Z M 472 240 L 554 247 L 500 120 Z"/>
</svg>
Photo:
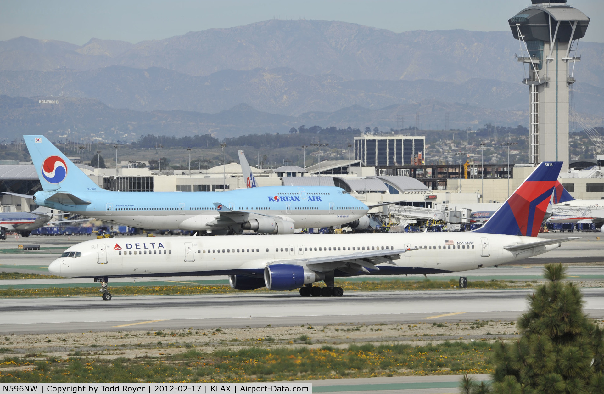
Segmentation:
<svg viewBox="0 0 604 394">
<path fill-rule="evenodd" d="M 576 238 L 537 238 L 561 162 L 543 162 L 483 227 L 463 233 L 316 234 L 95 239 L 68 248 L 54 275 L 94 278 L 228 275 L 235 289 L 342 296 L 334 278 L 437 274 L 536 256 Z M 323 280 L 326 287 L 313 286 Z"/>
</svg>

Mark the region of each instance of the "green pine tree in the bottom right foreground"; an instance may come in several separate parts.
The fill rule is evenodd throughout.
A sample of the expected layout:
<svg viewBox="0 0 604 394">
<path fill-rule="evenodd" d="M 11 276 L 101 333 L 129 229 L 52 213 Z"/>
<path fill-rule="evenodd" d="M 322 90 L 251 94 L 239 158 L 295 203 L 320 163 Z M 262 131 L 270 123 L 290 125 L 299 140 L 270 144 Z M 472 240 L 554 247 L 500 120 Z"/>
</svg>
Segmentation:
<svg viewBox="0 0 604 394">
<path fill-rule="evenodd" d="M 495 344 L 493 392 L 604 394 L 603 331 L 583 312 L 583 297 L 562 264 L 545 266 L 548 280 L 528 296 L 518 320 L 522 337 Z"/>
</svg>

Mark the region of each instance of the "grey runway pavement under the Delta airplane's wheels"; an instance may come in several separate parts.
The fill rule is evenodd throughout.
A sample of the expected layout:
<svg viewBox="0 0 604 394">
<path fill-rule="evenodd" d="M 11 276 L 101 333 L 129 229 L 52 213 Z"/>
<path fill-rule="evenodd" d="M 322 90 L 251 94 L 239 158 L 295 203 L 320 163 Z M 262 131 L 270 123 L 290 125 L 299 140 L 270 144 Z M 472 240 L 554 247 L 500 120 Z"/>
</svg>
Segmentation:
<svg viewBox="0 0 604 394">
<path fill-rule="evenodd" d="M 531 290 L 355 292 L 344 297 L 291 294 L 115 296 L 2 299 L 0 332 L 292 326 L 333 323 L 515 320 Z M 604 288 L 582 289 L 585 310 L 604 318 Z M 426 320 L 427 319 L 427 320 Z"/>
</svg>

